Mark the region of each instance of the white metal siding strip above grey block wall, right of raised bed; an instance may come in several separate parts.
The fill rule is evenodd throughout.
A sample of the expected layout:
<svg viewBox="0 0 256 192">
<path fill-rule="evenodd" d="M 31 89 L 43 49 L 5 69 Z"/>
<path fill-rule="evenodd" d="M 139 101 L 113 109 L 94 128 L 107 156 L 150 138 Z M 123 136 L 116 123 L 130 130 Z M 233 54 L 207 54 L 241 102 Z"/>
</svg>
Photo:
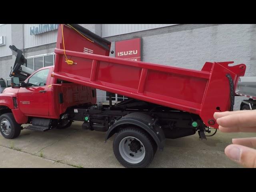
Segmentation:
<svg viewBox="0 0 256 192">
<path fill-rule="evenodd" d="M 177 24 L 102 24 L 102 37 L 109 37 Z"/>
</svg>

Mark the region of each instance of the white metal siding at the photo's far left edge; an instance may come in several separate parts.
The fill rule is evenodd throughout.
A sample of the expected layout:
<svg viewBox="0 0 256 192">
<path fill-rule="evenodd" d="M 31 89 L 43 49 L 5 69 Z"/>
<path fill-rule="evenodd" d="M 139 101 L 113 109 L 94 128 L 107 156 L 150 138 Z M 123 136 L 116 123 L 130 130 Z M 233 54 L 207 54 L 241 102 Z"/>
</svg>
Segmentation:
<svg viewBox="0 0 256 192">
<path fill-rule="evenodd" d="M 5 24 L 0 26 L 0 36 L 5 36 L 5 45 L 0 46 L 0 57 L 12 55 L 9 46 L 12 44 L 12 26 Z"/>
</svg>

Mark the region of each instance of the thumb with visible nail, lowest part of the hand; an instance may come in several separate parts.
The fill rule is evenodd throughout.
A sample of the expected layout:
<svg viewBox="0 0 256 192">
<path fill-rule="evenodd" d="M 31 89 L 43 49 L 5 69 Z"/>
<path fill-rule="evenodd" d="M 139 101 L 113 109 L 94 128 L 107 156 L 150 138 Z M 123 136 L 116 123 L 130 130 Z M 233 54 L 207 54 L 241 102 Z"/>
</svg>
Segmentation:
<svg viewBox="0 0 256 192">
<path fill-rule="evenodd" d="M 231 144 L 225 148 L 225 154 L 238 164 L 247 168 L 256 168 L 256 150 L 242 145 Z"/>
</svg>

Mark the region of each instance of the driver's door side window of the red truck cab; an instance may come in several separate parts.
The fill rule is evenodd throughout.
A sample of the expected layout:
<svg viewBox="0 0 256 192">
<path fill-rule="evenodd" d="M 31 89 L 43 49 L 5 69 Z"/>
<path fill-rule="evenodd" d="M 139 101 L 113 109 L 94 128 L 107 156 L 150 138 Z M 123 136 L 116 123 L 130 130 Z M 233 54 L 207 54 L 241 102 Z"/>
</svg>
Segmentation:
<svg viewBox="0 0 256 192">
<path fill-rule="evenodd" d="M 43 69 L 36 72 L 32 77 L 28 80 L 28 86 L 46 86 L 46 80 L 49 74 L 49 69 Z"/>
</svg>

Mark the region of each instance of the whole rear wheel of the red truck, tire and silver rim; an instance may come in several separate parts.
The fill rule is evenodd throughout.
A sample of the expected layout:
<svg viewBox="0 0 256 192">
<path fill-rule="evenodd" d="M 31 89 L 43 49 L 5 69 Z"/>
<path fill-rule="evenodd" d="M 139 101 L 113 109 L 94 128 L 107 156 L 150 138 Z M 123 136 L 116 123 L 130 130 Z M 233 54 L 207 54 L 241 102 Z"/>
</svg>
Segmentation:
<svg viewBox="0 0 256 192">
<path fill-rule="evenodd" d="M 127 168 L 145 168 L 154 158 L 155 144 L 152 138 L 138 128 L 124 128 L 113 142 L 117 160 Z"/>
</svg>

